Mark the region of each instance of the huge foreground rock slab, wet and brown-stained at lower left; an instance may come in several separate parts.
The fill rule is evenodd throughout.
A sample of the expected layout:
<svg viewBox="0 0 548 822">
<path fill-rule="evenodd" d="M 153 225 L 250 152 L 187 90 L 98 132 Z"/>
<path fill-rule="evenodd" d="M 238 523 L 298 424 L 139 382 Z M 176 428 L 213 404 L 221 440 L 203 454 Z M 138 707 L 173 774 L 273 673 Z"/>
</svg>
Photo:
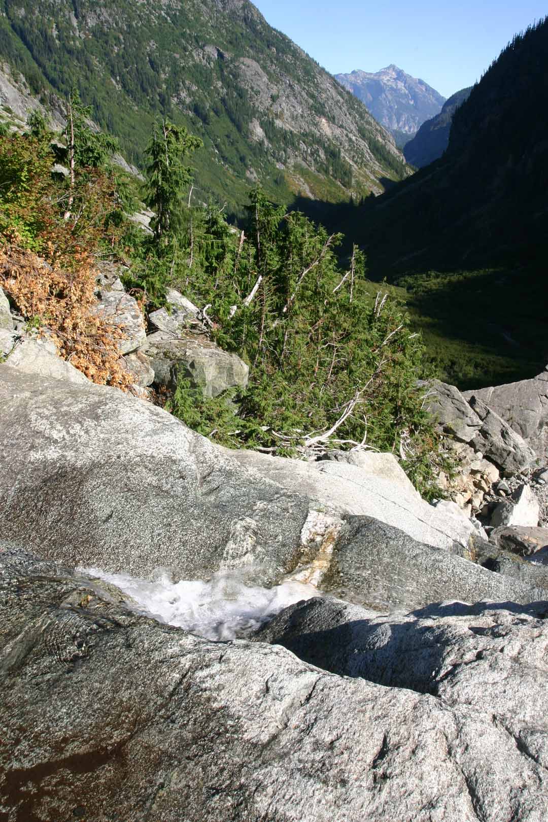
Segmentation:
<svg viewBox="0 0 548 822">
<path fill-rule="evenodd" d="M 440 660 L 451 674 L 440 699 L 334 676 L 279 646 L 202 640 L 114 600 L 71 570 L 0 555 L 7 822 L 544 818 L 538 621 L 514 615 L 506 643 L 505 623 L 478 622 L 452 658 L 410 630 L 400 667 L 414 663 L 420 686 Z M 391 658 L 397 639 L 388 625 L 375 647 Z"/>
</svg>

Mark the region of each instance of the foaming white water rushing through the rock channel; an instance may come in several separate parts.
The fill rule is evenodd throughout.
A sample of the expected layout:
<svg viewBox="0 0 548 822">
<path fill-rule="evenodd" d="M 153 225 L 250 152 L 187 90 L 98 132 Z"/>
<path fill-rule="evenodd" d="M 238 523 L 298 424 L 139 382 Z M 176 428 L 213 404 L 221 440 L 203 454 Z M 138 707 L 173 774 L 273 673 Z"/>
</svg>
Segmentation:
<svg viewBox="0 0 548 822">
<path fill-rule="evenodd" d="M 311 585 L 299 582 L 284 582 L 274 588 L 250 586 L 237 572 L 219 571 L 208 582 L 174 583 L 162 570 L 151 582 L 127 574 L 107 574 L 99 568 L 78 571 L 116 585 L 133 600 L 128 607 L 217 641 L 246 637 L 288 605 L 319 595 Z"/>
</svg>

